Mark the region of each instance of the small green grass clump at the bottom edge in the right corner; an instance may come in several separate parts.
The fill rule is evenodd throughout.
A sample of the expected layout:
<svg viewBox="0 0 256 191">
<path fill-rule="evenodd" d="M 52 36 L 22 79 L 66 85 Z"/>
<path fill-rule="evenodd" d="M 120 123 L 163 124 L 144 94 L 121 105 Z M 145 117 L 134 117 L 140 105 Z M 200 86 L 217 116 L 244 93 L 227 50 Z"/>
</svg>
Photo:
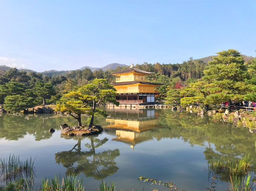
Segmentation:
<svg viewBox="0 0 256 191">
<path fill-rule="evenodd" d="M 230 174 L 229 190 L 230 191 L 252 191 L 250 186 L 251 174 L 245 177 L 239 177 L 238 175 Z M 255 191 L 255 190 L 254 190 Z"/>
</svg>

